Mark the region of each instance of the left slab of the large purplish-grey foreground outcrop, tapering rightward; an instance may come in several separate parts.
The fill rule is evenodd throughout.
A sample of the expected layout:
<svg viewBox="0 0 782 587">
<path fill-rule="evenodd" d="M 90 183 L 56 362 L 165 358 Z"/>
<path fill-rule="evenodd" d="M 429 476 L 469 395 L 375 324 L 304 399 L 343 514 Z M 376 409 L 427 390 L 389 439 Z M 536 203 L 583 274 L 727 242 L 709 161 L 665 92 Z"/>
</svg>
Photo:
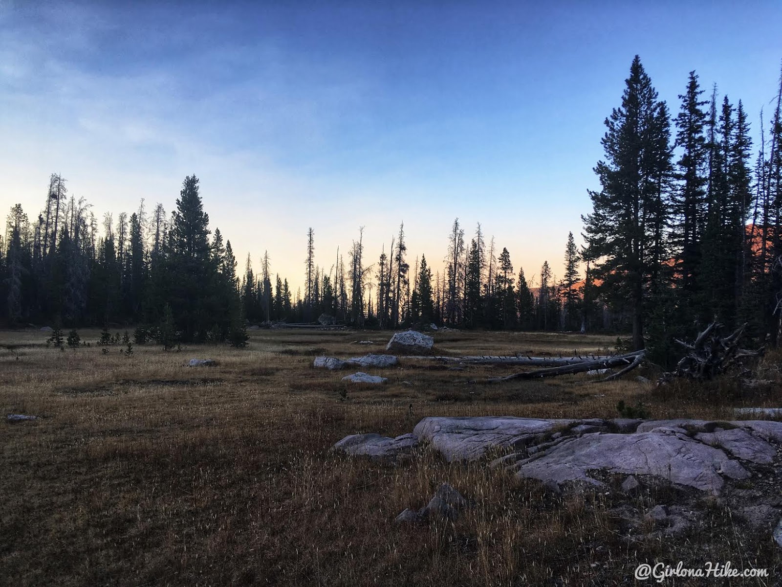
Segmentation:
<svg viewBox="0 0 782 587">
<path fill-rule="evenodd" d="M 536 436 L 568 427 L 572 423 L 603 420 L 537 420 L 511 416 L 428 417 L 413 430 L 421 440 L 449 460 L 475 460 L 492 448 L 530 444 Z"/>
</svg>

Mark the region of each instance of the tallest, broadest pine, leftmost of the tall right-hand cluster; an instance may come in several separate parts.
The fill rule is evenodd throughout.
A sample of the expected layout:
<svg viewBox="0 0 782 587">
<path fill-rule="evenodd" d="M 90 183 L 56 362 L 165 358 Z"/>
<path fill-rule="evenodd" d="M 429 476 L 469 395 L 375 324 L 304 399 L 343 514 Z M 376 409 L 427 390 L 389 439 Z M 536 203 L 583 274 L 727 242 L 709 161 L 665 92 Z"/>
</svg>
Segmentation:
<svg viewBox="0 0 782 587">
<path fill-rule="evenodd" d="M 644 292 L 661 279 L 665 261 L 660 249 L 669 217 L 669 121 L 638 56 L 625 85 L 622 106 L 605 121 L 606 160 L 594 170 L 602 189 L 590 191 L 593 212 L 583 221 L 601 291 L 614 304 L 629 306 L 633 348 L 644 348 Z"/>
</svg>

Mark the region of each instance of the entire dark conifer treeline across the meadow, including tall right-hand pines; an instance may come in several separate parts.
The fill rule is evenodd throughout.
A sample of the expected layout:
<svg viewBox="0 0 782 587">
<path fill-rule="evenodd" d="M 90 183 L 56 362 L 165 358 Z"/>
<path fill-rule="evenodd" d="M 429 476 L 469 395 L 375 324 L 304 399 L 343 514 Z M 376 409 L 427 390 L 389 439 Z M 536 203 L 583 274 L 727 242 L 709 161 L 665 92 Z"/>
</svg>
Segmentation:
<svg viewBox="0 0 782 587">
<path fill-rule="evenodd" d="M 744 106 L 692 72 L 672 117 L 636 57 L 622 103 L 605 121 L 605 157 L 565 271 L 544 262 L 533 284 L 507 248 L 472 236 L 456 219 L 447 255 L 432 263 L 407 250 L 404 225 L 372 262 L 359 229 L 333 263 L 315 262 L 307 232 L 304 285 L 292 291 L 267 253 L 242 275 L 229 241 L 213 234 L 198 179 L 185 178 L 176 209 L 142 205 L 102 226 L 84 200 L 50 178 L 30 221 L 12 208 L 0 243 L 0 319 L 10 326 L 62 322 L 174 327 L 181 340 L 223 340 L 247 323 L 335 322 L 364 328 L 449 325 L 508 330 L 631 332 L 635 348 L 673 357 L 673 338 L 712 319 L 747 322 L 779 341 L 782 307 L 782 80 L 770 124 L 760 116 L 753 156 Z M 322 257 L 321 257 L 322 258 Z M 579 269 L 584 270 L 583 279 Z M 171 326 L 173 324 L 173 326 Z M 239 336 L 237 334 L 236 336 Z"/>
</svg>

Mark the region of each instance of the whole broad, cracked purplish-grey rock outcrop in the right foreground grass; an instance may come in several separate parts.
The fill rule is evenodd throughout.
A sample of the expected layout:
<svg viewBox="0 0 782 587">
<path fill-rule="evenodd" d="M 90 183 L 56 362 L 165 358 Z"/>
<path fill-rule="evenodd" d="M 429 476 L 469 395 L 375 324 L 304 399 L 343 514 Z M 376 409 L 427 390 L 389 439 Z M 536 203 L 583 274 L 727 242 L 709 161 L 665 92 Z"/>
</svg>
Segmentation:
<svg viewBox="0 0 782 587">
<path fill-rule="evenodd" d="M 752 477 L 753 467 L 773 464 L 782 445 L 782 423 L 767 420 L 428 417 L 413 434 L 449 461 L 493 454 L 492 466 L 556 488 L 603 487 L 604 473 L 629 475 L 624 492 L 640 487 L 637 476 L 650 476 L 719 494 L 729 481 Z"/>
</svg>

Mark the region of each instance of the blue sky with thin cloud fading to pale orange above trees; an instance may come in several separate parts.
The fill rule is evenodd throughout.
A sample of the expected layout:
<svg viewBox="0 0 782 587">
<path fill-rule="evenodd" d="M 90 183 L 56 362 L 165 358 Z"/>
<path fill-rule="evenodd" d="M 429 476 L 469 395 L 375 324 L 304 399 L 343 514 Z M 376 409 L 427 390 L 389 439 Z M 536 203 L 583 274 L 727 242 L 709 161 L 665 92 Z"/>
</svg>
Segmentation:
<svg viewBox="0 0 782 587">
<path fill-rule="evenodd" d="M 239 271 L 267 250 L 294 291 L 309 227 L 327 272 L 402 222 L 436 271 L 454 218 L 561 275 L 633 56 L 674 115 L 691 70 L 741 99 L 757 143 L 780 31 L 778 0 L 0 0 L 0 213 L 59 173 L 99 218 L 170 214 L 195 174 Z"/>
</svg>

